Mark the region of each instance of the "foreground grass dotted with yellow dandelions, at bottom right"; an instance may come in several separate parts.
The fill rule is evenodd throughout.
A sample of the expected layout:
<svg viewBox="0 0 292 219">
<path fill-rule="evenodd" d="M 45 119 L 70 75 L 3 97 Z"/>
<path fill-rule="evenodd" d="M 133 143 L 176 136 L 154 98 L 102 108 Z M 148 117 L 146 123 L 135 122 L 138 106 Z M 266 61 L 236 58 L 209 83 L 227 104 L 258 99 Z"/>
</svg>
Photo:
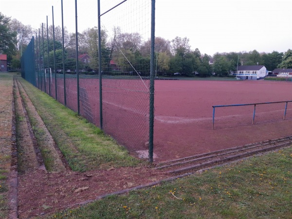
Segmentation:
<svg viewBox="0 0 292 219">
<path fill-rule="evenodd" d="M 48 218 L 290 219 L 291 166 L 290 147 Z"/>
</svg>

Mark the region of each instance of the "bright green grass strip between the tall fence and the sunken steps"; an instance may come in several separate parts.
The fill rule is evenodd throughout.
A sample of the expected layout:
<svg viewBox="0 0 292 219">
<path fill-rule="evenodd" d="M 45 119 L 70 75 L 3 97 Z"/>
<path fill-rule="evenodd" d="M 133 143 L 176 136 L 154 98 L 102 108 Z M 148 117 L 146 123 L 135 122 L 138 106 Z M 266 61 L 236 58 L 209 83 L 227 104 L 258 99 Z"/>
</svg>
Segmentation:
<svg viewBox="0 0 292 219">
<path fill-rule="evenodd" d="M 142 164 L 102 130 L 19 78 L 55 142 L 75 171 Z"/>
</svg>

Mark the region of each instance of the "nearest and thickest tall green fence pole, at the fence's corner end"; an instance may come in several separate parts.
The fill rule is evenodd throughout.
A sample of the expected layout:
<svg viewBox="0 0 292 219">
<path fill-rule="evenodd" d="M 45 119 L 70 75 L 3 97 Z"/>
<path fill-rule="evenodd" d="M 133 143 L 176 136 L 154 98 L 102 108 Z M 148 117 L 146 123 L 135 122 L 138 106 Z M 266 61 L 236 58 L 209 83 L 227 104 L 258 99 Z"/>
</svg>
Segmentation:
<svg viewBox="0 0 292 219">
<path fill-rule="evenodd" d="M 153 162 L 154 134 L 154 46 L 155 46 L 155 0 L 151 0 L 151 60 L 150 60 L 150 101 L 149 101 L 149 162 Z"/>
</svg>

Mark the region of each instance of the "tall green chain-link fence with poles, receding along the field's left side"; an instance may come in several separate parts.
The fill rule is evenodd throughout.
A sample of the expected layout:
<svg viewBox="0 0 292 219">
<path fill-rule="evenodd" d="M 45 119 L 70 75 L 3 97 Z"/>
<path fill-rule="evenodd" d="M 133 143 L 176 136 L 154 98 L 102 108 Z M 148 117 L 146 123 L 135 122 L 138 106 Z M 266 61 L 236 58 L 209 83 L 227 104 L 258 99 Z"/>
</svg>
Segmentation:
<svg viewBox="0 0 292 219">
<path fill-rule="evenodd" d="M 74 13 L 66 4 L 40 24 L 23 77 L 152 161 L 155 0 L 75 0 Z"/>
</svg>

